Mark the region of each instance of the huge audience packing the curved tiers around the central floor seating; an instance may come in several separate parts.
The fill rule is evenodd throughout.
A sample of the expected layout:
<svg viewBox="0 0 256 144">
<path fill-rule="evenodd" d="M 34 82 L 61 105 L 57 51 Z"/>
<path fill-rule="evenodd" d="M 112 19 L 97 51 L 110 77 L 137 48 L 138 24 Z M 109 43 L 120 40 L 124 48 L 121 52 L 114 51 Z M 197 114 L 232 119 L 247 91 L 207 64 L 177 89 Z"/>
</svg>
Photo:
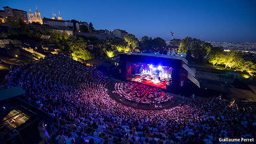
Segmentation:
<svg viewBox="0 0 256 144">
<path fill-rule="evenodd" d="M 256 137 L 253 108 L 235 109 L 218 97 L 184 101 L 167 110 L 126 107 L 109 97 L 108 77 L 65 55 L 12 69 L 7 79 L 7 86 L 21 86 L 30 94 L 28 101 L 61 119 L 60 125 L 78 132 L 86 126 L 85 132 L 104 144 L 217 144 L 219 138 Z M 47 141 L 41 127 L 40 135 Z M 83 138 L 77 142 L 79 136 L 64 129 L 55 139 L 59 144 L 67 144 L 69 138 L 75 144 L 97 143 Z"/>
</svg>

